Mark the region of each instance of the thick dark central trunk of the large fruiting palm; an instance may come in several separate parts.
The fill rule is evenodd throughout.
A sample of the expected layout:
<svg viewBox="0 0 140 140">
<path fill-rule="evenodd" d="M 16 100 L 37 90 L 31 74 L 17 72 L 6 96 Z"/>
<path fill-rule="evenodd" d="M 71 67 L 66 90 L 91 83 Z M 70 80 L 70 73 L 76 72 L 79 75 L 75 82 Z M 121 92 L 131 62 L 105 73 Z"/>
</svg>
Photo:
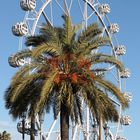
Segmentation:
<svg viewBox="0 0 140 140">
<path fill-rule="evenodd" d="M 69 140 L 69 116 L 67 115 L 67 107 L 61 103 L 60 125 L 61 125 L 61 140 Z"/>
</svg>

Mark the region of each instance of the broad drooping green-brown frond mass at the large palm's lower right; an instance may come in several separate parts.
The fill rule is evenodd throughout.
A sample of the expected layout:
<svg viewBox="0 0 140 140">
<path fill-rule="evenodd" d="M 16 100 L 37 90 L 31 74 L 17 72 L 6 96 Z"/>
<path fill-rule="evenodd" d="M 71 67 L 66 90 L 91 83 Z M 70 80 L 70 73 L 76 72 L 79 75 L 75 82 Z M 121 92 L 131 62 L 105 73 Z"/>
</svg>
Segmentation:
<svg viewBox="0 0 140 140">
<path fill-rule="evenodd" d="M 84 88 L 83 94 L 88 107 L 90 108 L 94 119 L 99 123 L 100 117 L 103 122 L 114 121 L 117 122 L 119 115 L 116 106 L 112 100 L 102 90 L 92 85 L 90 88 Z"/>
</svg>

